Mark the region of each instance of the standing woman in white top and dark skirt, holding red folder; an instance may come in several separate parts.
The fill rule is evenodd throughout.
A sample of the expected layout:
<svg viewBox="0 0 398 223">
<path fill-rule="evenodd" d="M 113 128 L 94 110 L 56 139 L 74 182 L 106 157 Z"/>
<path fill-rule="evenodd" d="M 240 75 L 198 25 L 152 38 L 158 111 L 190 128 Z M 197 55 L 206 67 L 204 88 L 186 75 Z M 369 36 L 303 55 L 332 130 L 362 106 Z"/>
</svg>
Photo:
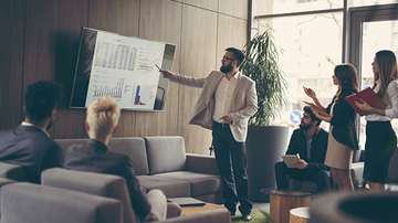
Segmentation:
<svg viewBox="0 0 398 223">
<path fill-rule="evenodd" d="M 397 136 L 390 120 L 398 117 L 397 59 L 391 51 L 379 51 L 371 63 L 375 93 L 387 104 L 371 107 L 366 102 L 356 106 L 366 112 L 366 144 L 364 179 L 371 190 L 385 190 L 389 161 L 397 148 Z"/>
</svg>

